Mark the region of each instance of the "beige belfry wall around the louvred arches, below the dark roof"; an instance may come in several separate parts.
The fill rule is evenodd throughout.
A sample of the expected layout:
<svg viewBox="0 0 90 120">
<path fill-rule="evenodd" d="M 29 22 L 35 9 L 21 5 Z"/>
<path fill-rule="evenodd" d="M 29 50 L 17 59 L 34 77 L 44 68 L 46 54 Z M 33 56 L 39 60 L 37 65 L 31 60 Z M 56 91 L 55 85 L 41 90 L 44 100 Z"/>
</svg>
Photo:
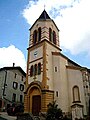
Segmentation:
<svg viewBox="0 0 90 120">
<path fill-rule="evenodd" d="M 54 30 L 56 32 L 56 39 L 57 39 L 56 46 L 57 47 L 60 46 L 60 44 L 59 44 L 59 30 L 56 27 L 56 25 L 54 24 L 54 22 L 52 20 L 39 20 L 39 21 L 36 21 L 30 29 L 29 47 L 32 46 L 32 44 L 33 44 L 33 32 L 34 32 L 34 30 L 38 31 L 39 27 L 41 27 L 41 29 L 42 29 L 41 30 L 41 41 L 43 39 L 46 39 L 47 41 L 49 41 L 49 28 L 51 28 L 52 30 Z"/>
</svg>

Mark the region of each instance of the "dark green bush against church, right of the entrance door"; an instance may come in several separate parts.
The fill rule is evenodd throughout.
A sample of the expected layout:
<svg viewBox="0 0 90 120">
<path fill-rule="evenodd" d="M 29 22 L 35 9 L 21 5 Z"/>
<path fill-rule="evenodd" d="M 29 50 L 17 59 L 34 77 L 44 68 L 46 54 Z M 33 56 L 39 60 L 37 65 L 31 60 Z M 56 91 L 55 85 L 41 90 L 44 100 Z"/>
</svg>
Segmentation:
<svg viewBox="0 0 90 120">
<path fill-rule="evenodd" d="M 58 108 L 56 101 L 48 104 L 46 120 L 61 120 L 63 118 L 62 110 Z"/>
</svg>

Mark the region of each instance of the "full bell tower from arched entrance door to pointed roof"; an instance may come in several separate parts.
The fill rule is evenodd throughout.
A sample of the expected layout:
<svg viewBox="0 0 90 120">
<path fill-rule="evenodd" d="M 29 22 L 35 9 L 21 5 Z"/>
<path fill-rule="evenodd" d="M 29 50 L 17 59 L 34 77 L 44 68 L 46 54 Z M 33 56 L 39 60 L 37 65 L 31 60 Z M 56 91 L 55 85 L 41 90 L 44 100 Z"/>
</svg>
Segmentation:
<svg viewBox="0 0 90 120">
<path fill-rule="evenodd" d="M 24 107 L 26 112 L 38 115 L 46 112 L 54 99 L 52 53 L 61 51 L 59 29 L 44 10 L 29 30 Z"/>
</svg>

